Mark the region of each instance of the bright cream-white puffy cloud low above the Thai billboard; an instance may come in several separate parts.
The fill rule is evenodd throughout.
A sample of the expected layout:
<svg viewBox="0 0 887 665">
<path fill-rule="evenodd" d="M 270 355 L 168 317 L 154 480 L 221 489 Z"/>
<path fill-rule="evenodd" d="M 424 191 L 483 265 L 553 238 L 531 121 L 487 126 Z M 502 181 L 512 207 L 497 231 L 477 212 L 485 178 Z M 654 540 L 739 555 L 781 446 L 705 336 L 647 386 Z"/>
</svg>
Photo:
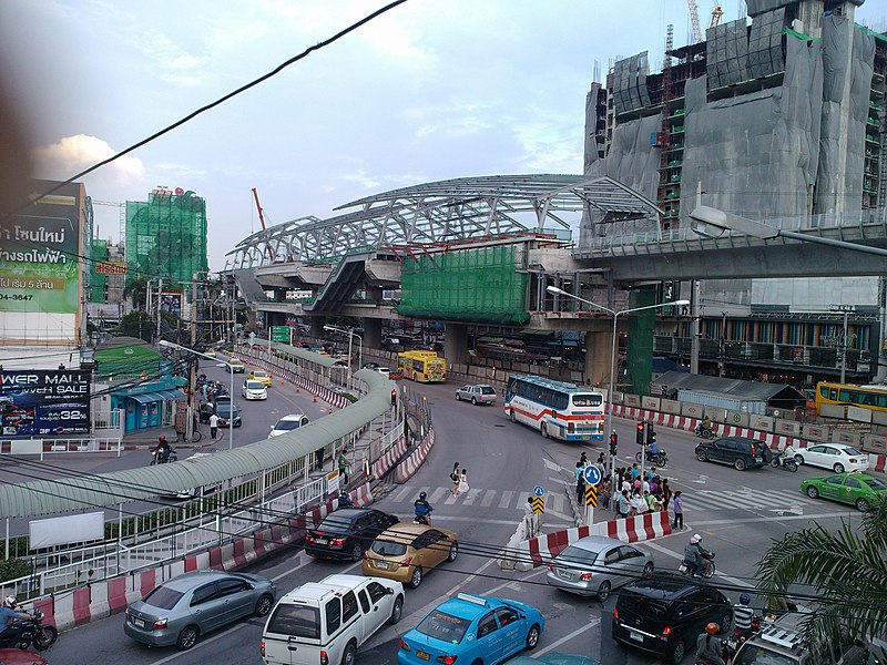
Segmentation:
<svg viewBox="0 0 887 665">
<path fill-rule="evenodd" d="M 34 164 L 41 177 L 67 180 L 96 162 L 116 154 L 105 141 L 96 136 L 77 134 L 64 136 L 57 143 L 34 150 Z M 144 166 L 137 157 L 124 155 L 102 166 L 100 172 L 114 184 L 128 186 L 144 178 Z"/>
</svg>

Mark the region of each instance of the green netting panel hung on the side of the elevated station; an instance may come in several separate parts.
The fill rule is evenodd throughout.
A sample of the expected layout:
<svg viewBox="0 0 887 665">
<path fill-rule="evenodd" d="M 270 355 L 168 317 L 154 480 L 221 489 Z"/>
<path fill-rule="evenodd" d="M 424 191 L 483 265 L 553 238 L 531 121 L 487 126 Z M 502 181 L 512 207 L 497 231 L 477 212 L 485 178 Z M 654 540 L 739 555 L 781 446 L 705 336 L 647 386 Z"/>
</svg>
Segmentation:
<svg viewBox="0 0 887 665">
<path fill-rule="evenodd" d="M 523 325 L 528 277 L 518 272 L 514 247 L 430 254 L 400 265 L 402 316 Z"/>
</svg>

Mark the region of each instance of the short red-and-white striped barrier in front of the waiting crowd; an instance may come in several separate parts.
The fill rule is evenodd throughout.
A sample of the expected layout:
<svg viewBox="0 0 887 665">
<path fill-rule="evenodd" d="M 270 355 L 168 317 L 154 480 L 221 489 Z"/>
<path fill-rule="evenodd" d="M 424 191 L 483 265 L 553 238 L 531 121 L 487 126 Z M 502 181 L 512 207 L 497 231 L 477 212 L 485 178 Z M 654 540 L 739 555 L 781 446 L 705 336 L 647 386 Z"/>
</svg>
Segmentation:
<svg viewBox="0 0 887 665">
<path fill-rule="evenodd" d="M 591 526 L 555 531 L 539 538 L 521 541 L 516 550 L 508 552 L 500 560 L 500 566 L 529 571 L 540 565 L 548 565 L 568 545 L 587 535 L 606 535 L 626 543 L 635 543 L 669 535 L 671 532 L 672 525 L 669 521 L 669 513 L 665 511 L 610 520 L 609 522 L 598 522 Z M 503 562 L 507 563 L 507 566 L 503 565 Z"/>
</svg>

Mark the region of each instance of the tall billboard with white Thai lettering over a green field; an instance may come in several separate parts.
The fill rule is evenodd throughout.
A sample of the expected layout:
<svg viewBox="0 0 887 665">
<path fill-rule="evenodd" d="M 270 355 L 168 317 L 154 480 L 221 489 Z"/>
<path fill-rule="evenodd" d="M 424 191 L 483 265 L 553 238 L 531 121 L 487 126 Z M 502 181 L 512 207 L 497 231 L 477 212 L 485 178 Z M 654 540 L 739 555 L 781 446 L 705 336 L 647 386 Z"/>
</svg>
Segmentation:
<svg viewBox="0 0 887 665">
<path fill-rule="evenodd" d="M 48 190 L 52 183 L 38 182 Z M 82 185 L 67 185 L 0 219 L 2 336 L 79 339 Z"/>
</svg>

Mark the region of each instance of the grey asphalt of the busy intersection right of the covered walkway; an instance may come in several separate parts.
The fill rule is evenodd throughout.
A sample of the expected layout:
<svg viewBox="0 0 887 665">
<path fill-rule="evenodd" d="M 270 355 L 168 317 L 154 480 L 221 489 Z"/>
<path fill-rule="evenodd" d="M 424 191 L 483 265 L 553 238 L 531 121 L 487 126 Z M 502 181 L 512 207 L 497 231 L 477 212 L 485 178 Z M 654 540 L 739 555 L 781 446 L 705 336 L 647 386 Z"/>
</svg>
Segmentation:
<svg viewBox="0 0 887 665">
<path fill-rule="evenodd" d="M 456 402 L 456 386 L 409 387 L 427 395 L 437 442 L 419 472 L 407 484 L 391 489 L 376 508 L 409 519 L 416 495 L 419 491 L 428 492 L 435 505 L 435 523 L 459 535 L 460 554 L 456 562 L 432 571 L 419 589 L 407 590 L 402 621 L 374 636 L 358 653 L 357 662 L 396 663 L 399 636 L 442 600 L 466 591 L 502 595 L 539 607 L 548 623 L 534 654 L 579 653 L 606 665 L 657 663 L 611 640 L 615 594 L 601 604 L 559 592 L 546 584 L 543 569 L 503 572 L 488 553 L 490 548 L 503 545 L 513 533 L 522 515 L 522 504 L 537 484 L 546 488 L 548 497 L 543 529 L 573 525 L 564 498 L 572 489 L 572 469 L 583 447 L 546 440 L 524 426 L 510 423 L 501 405 L 471 407 Z M 638 449 L 634 423 L 616 419 L 615 427 L 621 440 L 620 457 L 633 460 Z M 695 439 L 686 432 L 663 428 L 659 430 L 659 441 L 671 460 L 667 469 L 661 471 L 674 489 L 684 492 L 687 525 L 682 533 L 642 545 L 653 553 L 660 570 L 674 570 L 690 534 L 700 533 L 704 544 L 717 553 L 718 575 L 714 583 L 748 586 L 753 583 L 755 563 L 772 539 L 809 526 L 813 520 L 827 528 L 836 526 L 842 518 L 858 523 L 854 509 L 816 502 L 801 493 L 803 479 L 825 475 L 825 470 L 802 467 L 797 473 L 771 468 L 740 472 L 727 466 L 697 462 L 693 456 Z M 603 449 L 602 446 L 584 448 L 592 460 Z M 468 495 L 458 499 L 448 493 L 453 461 L 468 469 L 471 485 Z M 251 572 L 275 579 L 278 592 L 285 593 L 334 572 L 359 573 L 359 564 L 316 562 L 294 549 L 253 566 Z M 737 591 L 727 593 L 734 601 L 737 594 Z M 759 603 L 756 598 L 753 605 Z M 62 634 L 49 654 L 50 661 L 65 665 L 262 663 L 258 644 L 264 622 L 257 618 L 207 635 L 188 652 L 135 644 L 123 634 L 122 623 L 123 616 L 115 615 Z M 687 657 L 685 663 L 692 663 L 692 658 Z"/>
</svg>

